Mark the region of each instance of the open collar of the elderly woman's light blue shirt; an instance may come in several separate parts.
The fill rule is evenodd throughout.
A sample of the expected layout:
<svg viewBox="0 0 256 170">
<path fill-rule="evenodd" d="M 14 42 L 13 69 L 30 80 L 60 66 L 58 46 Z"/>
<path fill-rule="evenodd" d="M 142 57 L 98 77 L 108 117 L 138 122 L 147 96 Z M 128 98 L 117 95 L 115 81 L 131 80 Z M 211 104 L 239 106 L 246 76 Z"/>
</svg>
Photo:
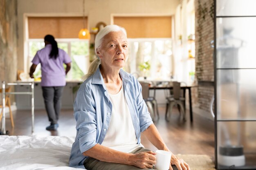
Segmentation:
<svg viewBox="0 0 256 170">
<path fill-rule="evenodd" d="M 92 84 L 104 84 L 103 77 L 101 75 L 99 67 L 97 68 L 96 72 L 92 75 Z M 130 80 L 130 76 L 123 69 L 120 69 L 119 74 L 123 81 L 128 82 Z"/>
</svg>

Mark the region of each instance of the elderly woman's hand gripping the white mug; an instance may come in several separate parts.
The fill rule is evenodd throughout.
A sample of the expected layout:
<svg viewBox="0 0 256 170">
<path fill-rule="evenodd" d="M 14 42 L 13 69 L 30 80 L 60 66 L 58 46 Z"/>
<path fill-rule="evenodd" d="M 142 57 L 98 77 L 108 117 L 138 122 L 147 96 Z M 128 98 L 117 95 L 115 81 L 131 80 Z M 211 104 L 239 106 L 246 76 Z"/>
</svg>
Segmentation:
<svg viewBox="0 0 256 170">
<path fill-rule="evenodd" d="M 137 166 L 141 169 L 153 168 L 156 163 L 156 153 L 153 151 L 140 152 L 132 154 L 129 158 L 129 162 L 132 166 Z"/>
</svg>

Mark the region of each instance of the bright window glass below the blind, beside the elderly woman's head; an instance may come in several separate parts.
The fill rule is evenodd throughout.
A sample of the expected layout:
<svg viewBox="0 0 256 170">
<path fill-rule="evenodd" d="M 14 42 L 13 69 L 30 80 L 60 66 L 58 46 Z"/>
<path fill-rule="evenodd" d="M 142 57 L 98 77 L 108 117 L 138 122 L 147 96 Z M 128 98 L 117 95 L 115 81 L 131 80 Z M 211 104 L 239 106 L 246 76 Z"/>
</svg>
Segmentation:
<svg viewBox="0 0 256 170">
<path fill-rule="evenodd" d="M 125 71 L 149 79 L 170 79 L 173 76 L 171 38 L 128 39 L 128 48 Z"/>
</svg>

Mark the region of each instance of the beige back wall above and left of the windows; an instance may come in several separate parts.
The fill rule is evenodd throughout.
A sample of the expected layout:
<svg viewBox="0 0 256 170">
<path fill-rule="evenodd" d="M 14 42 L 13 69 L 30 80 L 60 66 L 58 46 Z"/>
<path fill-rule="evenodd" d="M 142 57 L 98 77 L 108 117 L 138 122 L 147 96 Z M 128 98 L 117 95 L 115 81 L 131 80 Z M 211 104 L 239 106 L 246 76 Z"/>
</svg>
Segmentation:
<svg viewBox="0 0 256 170">
<path fill-rule="evenodd" d="M 85 0 L 89 27 L 111 16 L 174 15 L 179 0 Z M 24 70 L 25 15 L 83 15 L 83 0 L 18 0 L 18 69 Z M 93 37 L 92 37 L 93 38 Z M 26 49 L 26 48 L 25 48 Z"/>
</svg>

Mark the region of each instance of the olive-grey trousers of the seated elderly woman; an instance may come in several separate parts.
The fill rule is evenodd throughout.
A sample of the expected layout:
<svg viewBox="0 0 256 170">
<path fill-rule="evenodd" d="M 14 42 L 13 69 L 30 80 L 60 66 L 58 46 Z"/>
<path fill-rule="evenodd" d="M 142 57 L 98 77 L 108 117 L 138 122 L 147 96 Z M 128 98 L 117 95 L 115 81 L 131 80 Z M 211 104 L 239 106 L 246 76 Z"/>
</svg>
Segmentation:
<svg viewBox="0 0 256 170">
<path fill-rule="evenodd" d="M 131 153 L 139 153 L 139 152 L 147 152 L 150 151 L 149 149 L 139 147 L 133 150 Z M 87 170 L 141 170 L 136 166 L 130 166 L 121 163 L 110 163 L 110 162 L 103 162 L 97 159 L 89 157 L 83 162 L 85 169 Z M 172 166 L 173 170 L 177 170 L 176 166 Z M 143 170 L 154 170 L 153 168 L 150 169 L 143 169 Z"/>
</svg>

